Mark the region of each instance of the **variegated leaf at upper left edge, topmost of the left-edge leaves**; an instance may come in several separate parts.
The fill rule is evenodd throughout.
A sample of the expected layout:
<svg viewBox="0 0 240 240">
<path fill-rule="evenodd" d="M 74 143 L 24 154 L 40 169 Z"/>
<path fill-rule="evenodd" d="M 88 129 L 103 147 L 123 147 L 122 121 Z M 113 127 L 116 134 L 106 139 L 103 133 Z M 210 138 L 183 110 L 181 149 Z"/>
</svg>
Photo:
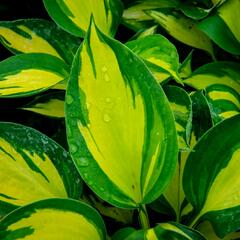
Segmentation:
<svg viewBox="0 0 240 240">
<path fill-rule="evenodd" d="M 42 19 L 0 22 L 0 42 L 15 54 L 47 53 L 72 63 L 79 39 Z"/>
</svg>

